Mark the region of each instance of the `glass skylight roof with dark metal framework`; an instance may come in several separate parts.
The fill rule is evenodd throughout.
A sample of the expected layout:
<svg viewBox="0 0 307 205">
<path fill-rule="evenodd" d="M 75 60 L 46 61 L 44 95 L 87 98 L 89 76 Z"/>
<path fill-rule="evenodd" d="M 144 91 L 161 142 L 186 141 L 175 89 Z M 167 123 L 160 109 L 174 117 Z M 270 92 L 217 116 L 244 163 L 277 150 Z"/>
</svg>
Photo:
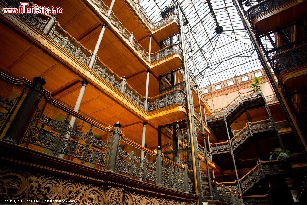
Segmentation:
<svg viewBox="0 0 307 205">
<path fill-rule="evenodd" d="M 243 75 L 262 68 L 257 53 L 243 26 L 232 0 L 179 0 L 189 23 L 185 25 L 188 67 L 196 76 L 200 87 Z M 141 0 L 153 22 L 159 20 L 165 6 L 175 0 Z M 272 36 L 273 37 L 273 36 Z M 268 39 L 269 41 L 269 39 Z M 191 44 L 191 47 L 188 45 Z"/>
</svg>

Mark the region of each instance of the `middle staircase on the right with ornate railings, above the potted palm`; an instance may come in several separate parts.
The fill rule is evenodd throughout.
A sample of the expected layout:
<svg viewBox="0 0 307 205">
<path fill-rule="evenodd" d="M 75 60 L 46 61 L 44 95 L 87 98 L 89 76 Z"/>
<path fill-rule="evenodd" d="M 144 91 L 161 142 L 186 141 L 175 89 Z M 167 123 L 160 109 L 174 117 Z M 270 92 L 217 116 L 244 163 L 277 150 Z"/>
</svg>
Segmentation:
<svg viewBox="0 0 307 205">
<path fill-rule="evenodd" d="M 268 130 L 273 130 L 274 126 L 272 121 L 269 119 L 261 120 L 257 122 L 247 122 L 246 126 L 241 130 L 233 130 L 234 137 L 225 142 L 210 143 L 210 153 L 212 155 L 220 153 L 230 153 L 230 146 L 235 150 L 249 137 L 253 136 L 255 133 L 266 132 Z"/>
</svg>

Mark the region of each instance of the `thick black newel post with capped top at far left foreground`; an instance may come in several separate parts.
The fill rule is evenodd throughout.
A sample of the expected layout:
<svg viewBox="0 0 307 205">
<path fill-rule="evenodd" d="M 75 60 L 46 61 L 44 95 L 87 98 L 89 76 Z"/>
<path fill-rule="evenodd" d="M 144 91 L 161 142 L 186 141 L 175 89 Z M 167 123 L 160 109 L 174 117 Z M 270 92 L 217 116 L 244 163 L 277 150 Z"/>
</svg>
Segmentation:
<svg viewBox="0 0 307 205">
<path fill-rule="evenodd" d="M 22 102 L 16 116 L 14 117 L 10 127 L 8 128 L 5 136 L 2 138 L 3 141 L 10 143 L 17 143 L 17 138 L 19 133 L 24 129 L 24 126 L 28 120 L 29 113 L 32 108 L 36 106 L 36 99 L 38 94 L 43 89 L 43 85 L 45 85 L 46 81 L 42 77 L 33 78 L 33 84 L 25 96 L 24 101 Z"/>
</svg>

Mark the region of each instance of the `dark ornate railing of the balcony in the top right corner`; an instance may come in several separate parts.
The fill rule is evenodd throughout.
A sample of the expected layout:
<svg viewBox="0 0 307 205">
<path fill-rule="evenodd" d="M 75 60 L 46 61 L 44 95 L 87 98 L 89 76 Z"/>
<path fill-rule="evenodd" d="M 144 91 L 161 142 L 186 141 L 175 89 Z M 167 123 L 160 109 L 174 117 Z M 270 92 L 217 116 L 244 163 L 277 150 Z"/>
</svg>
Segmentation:
<svg viewBox="0 0 307 205">
<path fill-rule="evenodd" d="M 266 0 L 260 2 L 247 10 L 248 20 L 251 22 L 251 20 L 256 16 L 263 14 L 270 9 L 274 9 L 287 1 L 289 0 Z"/>
</svg>

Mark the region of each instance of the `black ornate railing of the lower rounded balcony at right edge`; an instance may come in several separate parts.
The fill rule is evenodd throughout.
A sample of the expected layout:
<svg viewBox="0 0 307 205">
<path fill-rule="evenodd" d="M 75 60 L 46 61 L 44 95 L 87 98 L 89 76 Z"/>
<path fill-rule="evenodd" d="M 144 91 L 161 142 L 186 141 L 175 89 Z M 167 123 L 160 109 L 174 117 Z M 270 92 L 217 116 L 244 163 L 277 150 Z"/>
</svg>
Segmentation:
<svg viewBox="0 0 307 205">
<path fill-rule="evenodd" d="M 307 44 L 280 52 L 272 61 L 274 73 L 279 78 L 281 72 L 307 63 Z"/>
</svg>

